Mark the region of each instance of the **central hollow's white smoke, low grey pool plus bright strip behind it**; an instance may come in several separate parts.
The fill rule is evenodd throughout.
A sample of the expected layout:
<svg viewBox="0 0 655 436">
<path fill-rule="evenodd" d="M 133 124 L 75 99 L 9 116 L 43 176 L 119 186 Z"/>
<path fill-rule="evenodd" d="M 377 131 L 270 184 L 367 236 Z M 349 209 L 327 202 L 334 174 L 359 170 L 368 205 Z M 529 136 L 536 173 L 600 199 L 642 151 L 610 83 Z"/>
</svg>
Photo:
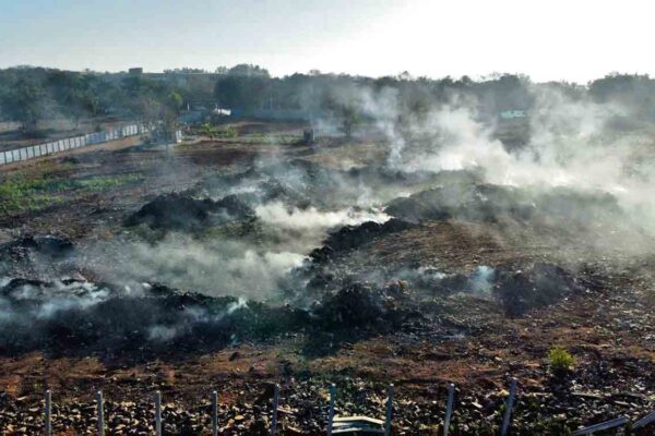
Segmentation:
<svg viewBox="0 0 655 436">
<path fill-rule="evenodd" d="M 323 211 L 279 202 L 261 205 L 255 213 L 263 229 L 262 239 L 254 242 L 183 233 L 169 233 L 154 244 L 107 242 L 90 249 L 102 253 L 90 255 L 90 262 L 104 262 L 88 267 L 105 279 L 132 287 L 156 281 L 215 296 L 269 300 L 281 291 L 281 280 L 320 246 L 330 229 L 389 219 L 379 210 Z"/>
</svg>

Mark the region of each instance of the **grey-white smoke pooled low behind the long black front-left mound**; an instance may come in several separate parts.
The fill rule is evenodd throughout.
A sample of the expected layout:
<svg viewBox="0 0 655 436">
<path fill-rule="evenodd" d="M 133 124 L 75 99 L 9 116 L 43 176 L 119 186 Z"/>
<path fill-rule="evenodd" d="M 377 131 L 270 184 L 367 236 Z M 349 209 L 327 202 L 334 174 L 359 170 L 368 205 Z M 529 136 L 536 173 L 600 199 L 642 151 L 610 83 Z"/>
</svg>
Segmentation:
<svg viewBox="0 0 655 436">
<path fill-rule="evenodd" d="M 98 247 L 104 265 L 91 265 L 114 281 L 162 282 L 209 295 L 266 299 L 277 281 L 305 259 L 303 253 L 257 251 L 238 241 L 204 240 L 171 233 L 156 244 L 129 242 Z"/>
</svg>

